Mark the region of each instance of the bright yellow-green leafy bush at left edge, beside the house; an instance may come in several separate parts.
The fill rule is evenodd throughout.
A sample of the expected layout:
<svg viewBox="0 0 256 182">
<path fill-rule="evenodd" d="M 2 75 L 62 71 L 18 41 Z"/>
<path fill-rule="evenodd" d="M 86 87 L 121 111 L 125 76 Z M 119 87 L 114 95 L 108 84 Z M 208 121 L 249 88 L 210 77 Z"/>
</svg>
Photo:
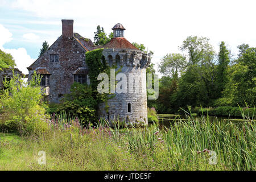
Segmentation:
<svg viewBox="0 0 256 182">
<path fill-rule="evenodd" d="M 34 74 L 30 84 L 27 84 L 13 73 L 13 78 L 3 84 L 7 89 L 0 98 L 1 124 L 20 135 L 44 133 L 48 116 L 42 103 L 40 77 Z"/>
</svg>

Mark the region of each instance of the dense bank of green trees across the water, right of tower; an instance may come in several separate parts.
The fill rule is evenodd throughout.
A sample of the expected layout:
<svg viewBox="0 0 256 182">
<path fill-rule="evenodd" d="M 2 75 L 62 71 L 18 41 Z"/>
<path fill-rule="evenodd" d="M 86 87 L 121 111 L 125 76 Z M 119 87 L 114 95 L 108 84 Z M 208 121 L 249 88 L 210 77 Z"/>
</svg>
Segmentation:
<svg viewBox="0 0 256 182">
<path fill-rule="evenodd" d="M 240 53 L 233 59 L 224 42 L 216 53 L 209 39 L 189 36 L 180 46 L 184 55 L 167 54 L 158 64 L 164 75 L 159 80 L 159 98 L 148 106 L 158 113 L 177 113 L 187 106 L 254 107 L 256 48 L 248 44 L 238 48 Z"/>
</svg>

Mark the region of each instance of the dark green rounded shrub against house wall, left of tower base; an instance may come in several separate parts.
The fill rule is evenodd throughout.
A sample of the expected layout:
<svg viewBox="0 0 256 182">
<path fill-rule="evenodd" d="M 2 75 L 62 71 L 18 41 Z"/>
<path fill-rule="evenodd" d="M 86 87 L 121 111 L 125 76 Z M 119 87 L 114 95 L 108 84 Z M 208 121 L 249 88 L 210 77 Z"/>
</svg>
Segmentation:
<svg viewBox="0 0 256 182">
<path fill-rule="evenodd" d="M 57 113 L 65 111 L 71 117 L 79 118 L 82 125 L 96 121 L 97 101 L 93 97 L 95 91 L 92 87 L 74 82 L 70 91 L 65 94 L 63 103 L 57 108 Z"/>
</svg>

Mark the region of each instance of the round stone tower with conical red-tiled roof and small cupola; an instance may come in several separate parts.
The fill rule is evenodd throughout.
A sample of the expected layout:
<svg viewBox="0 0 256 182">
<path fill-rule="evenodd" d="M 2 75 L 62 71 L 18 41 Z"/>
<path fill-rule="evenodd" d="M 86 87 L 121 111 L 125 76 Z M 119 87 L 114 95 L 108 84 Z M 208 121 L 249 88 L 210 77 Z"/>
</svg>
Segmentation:
<svg viewBox="0 0 256 182">
<path fill-rule="evenodd" d="M 147 91 L 146 68 L 150 64 L 150 56 L 140 51 L 124 38 L 125 28 L 118 23 L 112 28 L 114 38 L 104 46 L 102 59 L 126 76 L 126 92 L 118 93 L 108 100 L 109 109 L 105 110 L 105 103 L 99 105 L 100 117 L 110 120 L 119 118 L 119 121 L 147 123 Z M 122 81 L 117 78 L 117 82 Z M 132 86 L 131 86 L 132 85 Z"/>
</svg>

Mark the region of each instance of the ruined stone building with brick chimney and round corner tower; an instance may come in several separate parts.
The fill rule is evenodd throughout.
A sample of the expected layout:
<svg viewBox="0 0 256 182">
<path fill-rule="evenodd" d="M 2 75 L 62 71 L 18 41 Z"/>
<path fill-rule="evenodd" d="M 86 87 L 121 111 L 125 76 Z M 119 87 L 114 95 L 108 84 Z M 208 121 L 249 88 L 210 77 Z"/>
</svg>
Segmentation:
<svg viewBox="0 0 256 182">
<path fill-rule="evenodd" d="M 73 20 L 62 20 L 62 35 L 27 68 L 28 80 L 34 71 L 42 75 L 41 86 L 46 88 L 47 100 L 60 102 L 74 81 L 90 83 L 85 52 L 104 48 L 102 59 L 105 59 L 107 64 L 117 65 L 117 69 L 121 68 L 121 72 L 127 75 L 127 78 L 129 73 L 141 76 L 141 80 L 134 88 L 141 92 L 115 93 L 115 97 L 108 100 L 108 112 L 104 109 L 105 103 L 102 103 L 99 105 L 98 114 L 108 119 L 119 117 L 130 122 L 147 123 L 146 67 L 150 63 L 150 56 L 139 51 L 124 38 L 125 28 L 122 24 L 116 24 L 112 30 L 114 38 L 109 43 L 105 46 L 95 46 L 90 39 L 73 33 Z"/>
</svg>

